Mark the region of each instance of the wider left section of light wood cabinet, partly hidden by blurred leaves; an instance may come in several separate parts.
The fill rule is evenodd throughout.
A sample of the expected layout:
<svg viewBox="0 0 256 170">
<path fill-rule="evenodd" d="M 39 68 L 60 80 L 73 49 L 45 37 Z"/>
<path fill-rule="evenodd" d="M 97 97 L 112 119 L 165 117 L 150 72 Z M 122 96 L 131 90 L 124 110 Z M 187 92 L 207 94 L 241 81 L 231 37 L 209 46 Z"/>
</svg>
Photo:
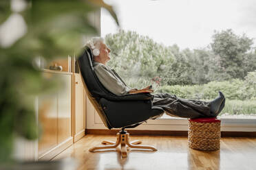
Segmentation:
<svg viewBox="0 0 256 170">
<path fill-rule="evenodd" d="M 72 145 L 72 73 L 43 73 L 63 83 L 62 88 L 50 95 L 39 96 L 39 160 L 50 160 Z"/>
</svg>

